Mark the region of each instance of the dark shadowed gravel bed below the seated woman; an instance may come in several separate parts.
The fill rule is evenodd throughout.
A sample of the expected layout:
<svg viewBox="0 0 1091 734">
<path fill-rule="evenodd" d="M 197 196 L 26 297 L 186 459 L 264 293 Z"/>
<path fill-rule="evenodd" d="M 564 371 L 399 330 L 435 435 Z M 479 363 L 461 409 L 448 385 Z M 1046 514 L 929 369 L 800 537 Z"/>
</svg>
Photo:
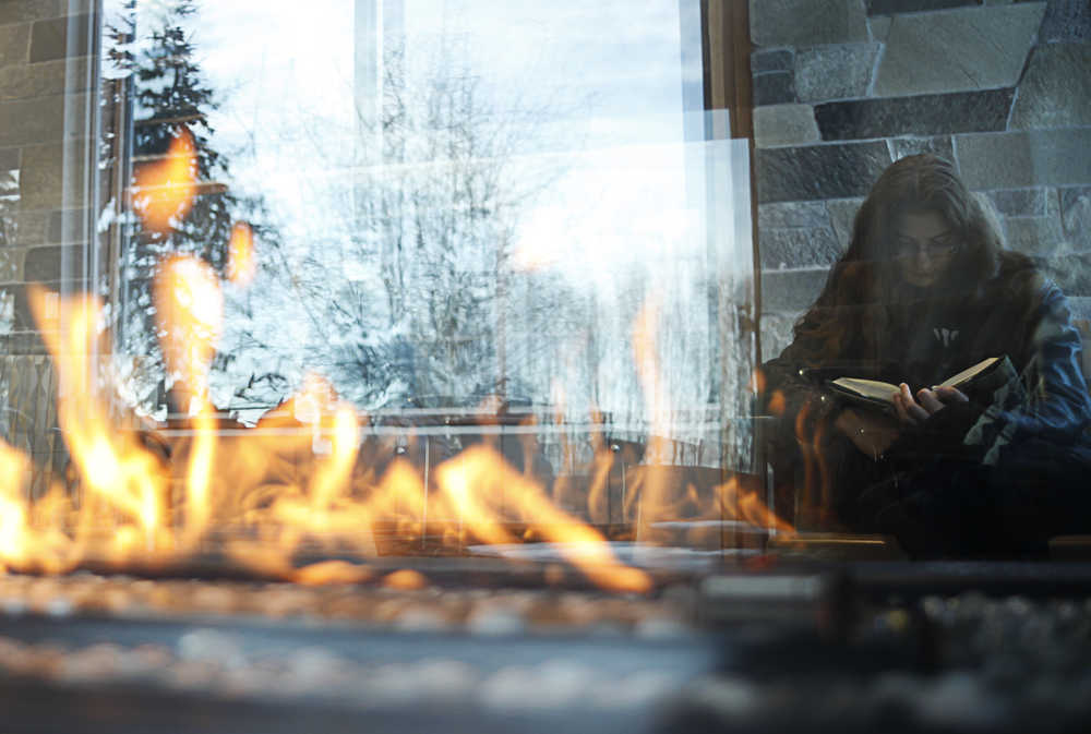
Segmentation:
<svg viewBox="0 0 1091 734">
<path fill-rule="evenodd" d="M 939 670 L 860 675 L 702 676 L 679 697 L 673 726 L 739 732 L 1091 731 L 1091 600 L 927 597 L 877 614 L 866 636 L 924 621 Z M 918 628 L 912 633 L 920 636 Z M 918 643 L 925 643 L 920 638 Z"/>
</svg>

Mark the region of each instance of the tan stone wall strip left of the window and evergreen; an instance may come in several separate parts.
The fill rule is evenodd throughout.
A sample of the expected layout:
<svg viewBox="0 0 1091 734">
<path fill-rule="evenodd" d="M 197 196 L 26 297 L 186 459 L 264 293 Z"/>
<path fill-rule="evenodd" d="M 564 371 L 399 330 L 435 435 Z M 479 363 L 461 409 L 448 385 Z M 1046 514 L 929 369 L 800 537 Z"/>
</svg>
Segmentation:
<svg viewBox="0 0 1091 734">
<path fill-rule="evenodd" d="M 0 435 L 39 466 L 59 441 L 25 286 L 83 287 L 93 5 L 0 1 Z"/>
</svg>

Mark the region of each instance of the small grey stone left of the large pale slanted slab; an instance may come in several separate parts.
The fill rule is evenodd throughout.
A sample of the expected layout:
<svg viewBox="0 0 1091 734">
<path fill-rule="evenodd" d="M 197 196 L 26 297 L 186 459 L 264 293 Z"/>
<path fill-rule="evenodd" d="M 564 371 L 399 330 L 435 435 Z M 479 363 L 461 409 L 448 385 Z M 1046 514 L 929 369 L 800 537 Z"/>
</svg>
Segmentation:
<svg viewBox="0 0 1091 734">
<path fill-rule="evenodd" d="M 879 48 L 879 44 L 840 44 L 800 49 L 795 53 L 800 101 L 865 96 Z"/>
</svg>

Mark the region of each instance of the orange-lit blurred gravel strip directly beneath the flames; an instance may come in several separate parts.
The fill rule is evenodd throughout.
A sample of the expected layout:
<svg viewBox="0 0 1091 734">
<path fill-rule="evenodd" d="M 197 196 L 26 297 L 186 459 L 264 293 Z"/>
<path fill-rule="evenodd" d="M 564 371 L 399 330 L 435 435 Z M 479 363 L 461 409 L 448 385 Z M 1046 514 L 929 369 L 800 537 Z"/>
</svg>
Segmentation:
<svg viewBox="0 0 1091 734">
<path fill-rule="evenodd" d="M 663 637 L 686 634 L 686 587 L 657 598 L 552 589 L 443 588 L 404 569 L 368 583 L 148 580 L 76 573 L 0 576 L 0 614 L 51 617 L 260 617 L 400 630 L 523 635 L 602 630 Z"/>
</svg>

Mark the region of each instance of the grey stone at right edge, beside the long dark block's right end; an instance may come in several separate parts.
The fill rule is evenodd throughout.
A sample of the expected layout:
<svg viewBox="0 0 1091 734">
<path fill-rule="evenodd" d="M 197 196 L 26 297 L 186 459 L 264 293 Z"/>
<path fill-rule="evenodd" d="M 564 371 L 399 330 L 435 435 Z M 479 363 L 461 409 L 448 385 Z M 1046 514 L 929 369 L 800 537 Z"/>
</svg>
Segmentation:
<svg viewBox="0 0 1091 734">
<path fill-rule="evenodd" d="M 1031 53 L 1011 129 L 1091 125 L 1091 44 L 1050 44 Z"/>
</svg>

